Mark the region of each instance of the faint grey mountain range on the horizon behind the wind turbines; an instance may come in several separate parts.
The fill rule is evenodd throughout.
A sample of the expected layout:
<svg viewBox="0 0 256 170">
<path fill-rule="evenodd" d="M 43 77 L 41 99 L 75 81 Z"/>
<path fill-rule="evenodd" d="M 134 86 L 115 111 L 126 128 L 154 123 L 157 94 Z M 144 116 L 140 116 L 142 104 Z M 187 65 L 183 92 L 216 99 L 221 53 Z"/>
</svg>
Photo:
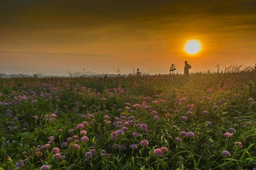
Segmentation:
<svg viewBox="0 0 256 170">
<path fill-rule="evenodd" d="M 74 73 L 71 73 L 72 77 L 83 77 L 84 76 L 84 73 L 82 72 L 74 72 Z M 114 76 L 117 76 L 117 74 L 108 74 L 108 73 L 102 73 L 102 74 L 98 74 L 96 72 L 90 72 L 90 71 L 87 71 L 85 72 L 85 77 L 103 77 L 103 76 L 109 76 L 109 77 L 114 77 Z M 44 75 L 44 74 L 41 74 L 41 73 L 36 73 L 36 74 L 33 74 L 33 75 L 28 75 L 28 74 L 4 74 L 4 73 L 0 73 L 0 78 L 12 78 L 12 77 L 39 77 L 39 78 L 43 78 L 43 77 L 69 77 L 69 76 L 52 76 L 52 75 Z"/>
</svg>

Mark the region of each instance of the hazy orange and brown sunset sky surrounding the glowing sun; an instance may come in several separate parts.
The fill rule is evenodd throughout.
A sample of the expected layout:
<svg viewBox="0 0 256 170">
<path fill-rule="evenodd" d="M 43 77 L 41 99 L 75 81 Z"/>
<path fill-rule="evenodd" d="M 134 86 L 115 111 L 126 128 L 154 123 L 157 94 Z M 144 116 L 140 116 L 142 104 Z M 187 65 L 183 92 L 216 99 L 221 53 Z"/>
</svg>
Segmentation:
<svg viewBox="0 0 256 170">
<path fill-rule="evenodd" d="M 256 0 L 0 0 L 0 72 L 168 73 L 256 63 Z M 189 39 L 202 51 L 184 52 Z"/>
</svg>

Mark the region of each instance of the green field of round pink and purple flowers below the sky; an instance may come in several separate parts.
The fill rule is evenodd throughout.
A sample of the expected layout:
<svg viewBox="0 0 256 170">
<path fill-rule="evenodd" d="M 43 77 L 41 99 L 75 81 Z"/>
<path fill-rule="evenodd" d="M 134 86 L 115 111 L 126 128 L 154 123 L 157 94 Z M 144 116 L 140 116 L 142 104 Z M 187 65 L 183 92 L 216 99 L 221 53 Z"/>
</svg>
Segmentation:
<svg viewBox="0 0 256 170">
<path fill-rule="evenodd" d="M 0 79 L 0 169 L 256 167 L 256 74 Z"/>
</svg>

